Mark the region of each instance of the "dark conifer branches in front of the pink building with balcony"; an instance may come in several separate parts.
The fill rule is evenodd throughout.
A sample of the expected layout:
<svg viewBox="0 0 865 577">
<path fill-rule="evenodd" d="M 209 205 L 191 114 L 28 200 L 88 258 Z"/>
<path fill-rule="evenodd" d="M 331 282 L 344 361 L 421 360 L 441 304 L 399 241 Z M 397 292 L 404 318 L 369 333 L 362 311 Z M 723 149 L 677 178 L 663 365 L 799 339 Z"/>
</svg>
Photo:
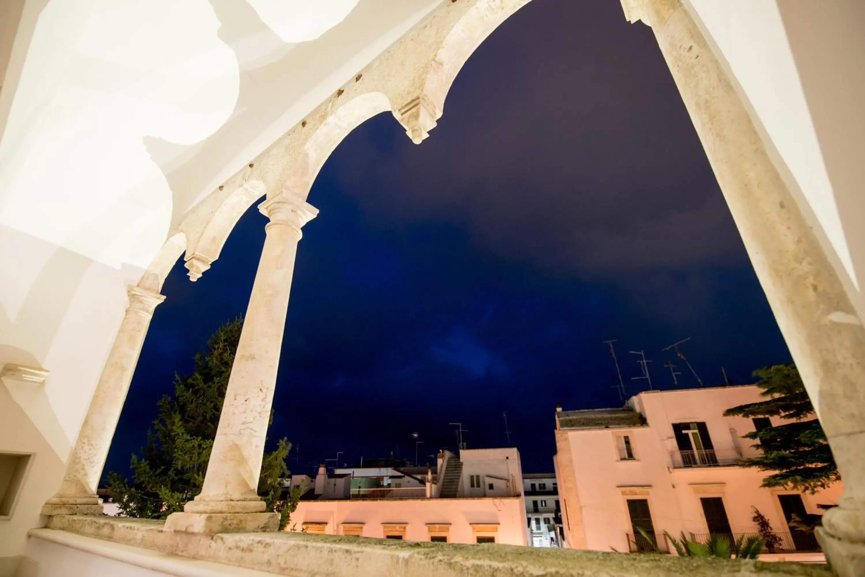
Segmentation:
<svg viewBox="0 0 865 577">
<path fill-rule="evenodd" d="M 764 487 L 814 494 L 839 481 L 835 458 L 796 365 L 764 367 L 753 375 L 759 377 L 757 386 L 763 389 L 761 396 L 767 400 L 727 409 L 724 415 L 779 417 L 790 422 L 744 435 L 746 439 L 757 440 L 758 444 L 753 446 L 763 453 L 742 459 L 741 465 L 775 471 L 763 479 Z"/>
</svg>

